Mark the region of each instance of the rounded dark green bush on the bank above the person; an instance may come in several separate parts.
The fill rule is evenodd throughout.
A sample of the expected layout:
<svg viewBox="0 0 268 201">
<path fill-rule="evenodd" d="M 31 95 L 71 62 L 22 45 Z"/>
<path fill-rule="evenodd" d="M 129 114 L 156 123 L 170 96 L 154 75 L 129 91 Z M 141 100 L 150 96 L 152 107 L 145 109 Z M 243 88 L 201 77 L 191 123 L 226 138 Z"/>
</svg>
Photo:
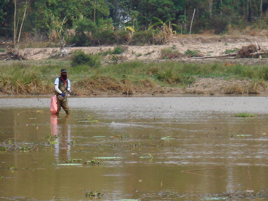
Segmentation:
<svg viewBox="0 0 268 201">
<path fill-rule="evenodd" d="M 71 65 L 87 65 L 90 67 L 99 67 L 100 60 L 98 55 L 85 54 L 82 50 L 74 52 L 71 56 Z"/>
</svg>

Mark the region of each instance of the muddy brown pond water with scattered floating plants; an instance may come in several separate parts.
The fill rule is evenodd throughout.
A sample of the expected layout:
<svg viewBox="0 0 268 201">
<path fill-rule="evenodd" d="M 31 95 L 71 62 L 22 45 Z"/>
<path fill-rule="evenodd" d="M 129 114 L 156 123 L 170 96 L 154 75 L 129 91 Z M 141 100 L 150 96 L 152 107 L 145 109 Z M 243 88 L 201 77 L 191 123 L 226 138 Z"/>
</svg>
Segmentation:
<svg viewBox="0 0 268 201">
<path fill-rule="evenodd" d="M 0 200 L 267 194 L 267 96 L 71 97 L 68 117 L 49 105 L 47 96 L 0 98 Z M 245 112 L 256 116 L 234 117 Z M 70 159 L 81 165 L 58 165 Z"/>
</svg>

